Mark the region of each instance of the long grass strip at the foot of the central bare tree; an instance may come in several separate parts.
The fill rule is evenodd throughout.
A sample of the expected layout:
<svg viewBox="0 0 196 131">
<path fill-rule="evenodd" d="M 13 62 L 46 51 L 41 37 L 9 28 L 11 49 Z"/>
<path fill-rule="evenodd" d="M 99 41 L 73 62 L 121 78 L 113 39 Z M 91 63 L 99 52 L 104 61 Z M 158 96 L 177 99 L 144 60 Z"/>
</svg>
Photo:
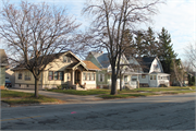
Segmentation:
<svg viewBox="0 0 196 131">
<path fill-rule="evenodd" d="M 189 90 L 192 88 L 192 90 Z M 49 92 L 73 94 L 73 95 L 98 95 L 101 98 L 128 98 L 128 97 L 139 97 L 139 96 L 150 96 L 159 94 L 180 94 L 180 93 L 193 93 L 195 92 L 195 86 L 192 87 L 142 87 L 135 90 L 123 90 L 118 91 L 118 95 L 110 95 L 110 90 L 89 90 L 89 91 L 75 91 L 75 90 L 48 90 Z"/>
</svg>

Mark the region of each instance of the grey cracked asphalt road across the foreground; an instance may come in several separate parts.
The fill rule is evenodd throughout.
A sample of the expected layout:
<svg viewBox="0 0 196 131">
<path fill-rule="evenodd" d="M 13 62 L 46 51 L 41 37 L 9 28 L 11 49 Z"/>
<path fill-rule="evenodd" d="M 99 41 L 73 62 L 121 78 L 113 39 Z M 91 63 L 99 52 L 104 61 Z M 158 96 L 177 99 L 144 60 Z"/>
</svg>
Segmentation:
<svg viewBox="0 0 196 131">
<path fill-rule="evenodd" d="M 195 130 L 195 94 L 1 109 L 1 130 Z"/>
</svg>

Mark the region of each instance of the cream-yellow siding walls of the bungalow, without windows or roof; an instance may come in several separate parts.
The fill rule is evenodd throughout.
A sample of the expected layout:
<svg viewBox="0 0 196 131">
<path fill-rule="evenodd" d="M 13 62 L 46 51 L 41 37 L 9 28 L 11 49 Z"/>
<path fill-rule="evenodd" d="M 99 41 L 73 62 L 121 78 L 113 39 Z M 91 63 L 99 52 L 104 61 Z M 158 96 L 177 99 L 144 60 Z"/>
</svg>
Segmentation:
<svg viewBox="0 0 196 131">
<path fill-rule="evenodd" d="M 66 56 L 68 53 L 65 53 Z M 94 72 L 96 71 L 86 71 L 86 69 L 81 66 L 81 61 L 76 59 L 74 56 L 71 56 L 71 62 L 64 62 L 63 56 L 60 56 L 59 59 L 54 59 L 52 62 L 48 63 L 45 71 L 41 73 L 41 79 L 38 82 L 39 88 L 57 88 L 59 85 L 66 85 L 66 87 L 74 87 L 76 84 L 76 71 L 79 72 L 79 84 L 84 85 L 86 83 L 86 88 L 96 88 L 96 81 L 83 81 L 83 72 Z M 68 67 L 71 63 L 78 63 L 78 66 L 72 67 L 71 69 L 68 69 Z M 22 88 L 33 88 L 35 87 L 34 83 L 35 80 L 33 78 L 33 74 L 30 73 L 30 81 L 25 81 L 25 72 L 27 70 L 16 70 L 15 71 L 15 87 L 22 87 Z M 49 72 L 63 72 L 63 80 L 49 80 Z M 22 73 L 22 79 L 19 80 L 19 73 Z M 96 80 L 96 78 L 95 78 Z"/>
</svg>

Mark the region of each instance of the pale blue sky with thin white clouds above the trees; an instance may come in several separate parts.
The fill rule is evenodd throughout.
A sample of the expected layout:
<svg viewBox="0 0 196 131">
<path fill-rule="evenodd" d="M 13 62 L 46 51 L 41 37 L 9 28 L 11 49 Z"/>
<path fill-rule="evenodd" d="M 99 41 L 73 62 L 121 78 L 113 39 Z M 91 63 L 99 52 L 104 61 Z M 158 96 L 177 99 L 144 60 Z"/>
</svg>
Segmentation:
<svg viewBox="0 0 196 131">
<path fill-rule="evenodd" d="M 28 0 L 29 2 L 66 5 L 70 14 L 73 14 L 77 22 L 82 23 L 82 28 L 88 27 L 89 20 L 81 16 L 81 10 L 85 0 Z M 20 0 L 10 0 L 11 3 L 19 3 Z M 184 48 L 189 43 L 196 41 L 196 0 L 168 0 L 167 4 L 159 7 L 159 13 L 152 17 L 154 23 L 148 24 L 154 31 L 160 32 L 166 27 L 171 34 L 175 52 L 183 59 Z M 145 29 L 145 27 L 144 27 Z M 2 44 L 0 48 L 3 48 Z"/>
</svg>

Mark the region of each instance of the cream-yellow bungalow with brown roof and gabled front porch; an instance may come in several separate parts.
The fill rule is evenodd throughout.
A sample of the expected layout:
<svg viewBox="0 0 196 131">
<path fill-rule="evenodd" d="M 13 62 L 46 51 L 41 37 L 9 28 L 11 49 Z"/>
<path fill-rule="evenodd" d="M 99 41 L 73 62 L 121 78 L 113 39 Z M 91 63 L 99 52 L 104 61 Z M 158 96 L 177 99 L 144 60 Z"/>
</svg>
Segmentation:
<svg viewBox="0 0 196 131">
<path fill-rule="evenodd" d="M 90 61 L 82 61 L 72 51 L 56 53 L 41 73 L 39 90 L 72 87 L 74 90 L 96 88 L 96 72 L 100 69 Z M 48 58 L 50 56 L 47 56 Z M 15 72 L 15 86 L 20 88 L 35 88 L 35 80 L 24 66 L 13 69 Z"/>
</svg>

